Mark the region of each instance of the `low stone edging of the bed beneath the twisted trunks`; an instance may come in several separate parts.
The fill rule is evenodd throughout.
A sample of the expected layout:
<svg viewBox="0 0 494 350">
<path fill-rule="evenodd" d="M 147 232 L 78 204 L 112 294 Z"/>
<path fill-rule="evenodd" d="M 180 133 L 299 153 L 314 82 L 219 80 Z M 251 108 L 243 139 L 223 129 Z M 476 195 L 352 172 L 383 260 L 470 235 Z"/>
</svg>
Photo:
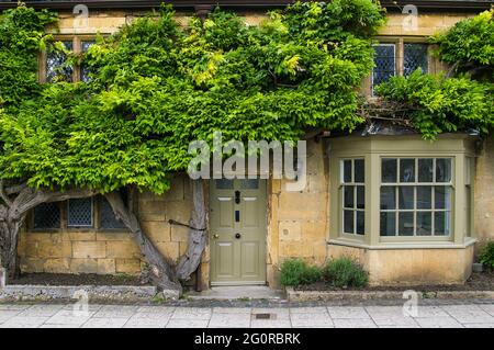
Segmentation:
<svg viewBox="0 0 494 350">
<path fill-rule="evenodd" d="M 139 302 L 149 301 L 157 294 L 157 287 L 151 285 L 11 284 L 0 289 L 0 302 L 80 301 L 86 296 L 91 302 Z"/>
</svg>

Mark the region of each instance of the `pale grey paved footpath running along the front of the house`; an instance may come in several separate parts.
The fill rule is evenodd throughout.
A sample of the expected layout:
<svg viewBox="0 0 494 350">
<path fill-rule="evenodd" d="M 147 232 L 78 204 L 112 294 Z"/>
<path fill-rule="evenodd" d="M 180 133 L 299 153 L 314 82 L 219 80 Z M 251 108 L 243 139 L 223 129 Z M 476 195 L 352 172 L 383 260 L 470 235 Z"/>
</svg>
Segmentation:
<svg viewBox="0 0 494 350">
<path fill-rule="evenodd" d="M 406 305 L 406 304 L 405 304 Z M 0 328 L 494 328 L 494 302 L 272 307 L 0 304 Z"/>
</svg>

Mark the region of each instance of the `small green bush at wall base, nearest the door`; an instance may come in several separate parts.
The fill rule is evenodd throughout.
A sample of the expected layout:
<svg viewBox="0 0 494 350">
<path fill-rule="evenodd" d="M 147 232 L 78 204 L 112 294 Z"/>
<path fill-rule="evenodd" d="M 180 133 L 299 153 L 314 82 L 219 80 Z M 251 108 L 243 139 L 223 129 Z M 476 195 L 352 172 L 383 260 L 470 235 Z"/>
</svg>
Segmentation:
<svg viewBox="0 0 494 350">
<path fill-rule="evenodd" d="M 297 286 L 321 280 L 322 272 L 317 267 L 310 267 L 301 259 L 288 259 L 281 264 L 281 285 Z"/>
</svg>

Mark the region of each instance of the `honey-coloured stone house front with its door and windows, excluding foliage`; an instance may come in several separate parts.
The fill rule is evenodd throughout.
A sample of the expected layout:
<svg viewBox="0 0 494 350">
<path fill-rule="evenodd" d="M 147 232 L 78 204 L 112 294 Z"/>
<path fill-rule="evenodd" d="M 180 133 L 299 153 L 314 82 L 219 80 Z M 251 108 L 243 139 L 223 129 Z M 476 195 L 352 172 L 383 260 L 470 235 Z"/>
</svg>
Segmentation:
<svg viewBox="0 0 494 350">
<path fill-rule="evenodd" d="M 183 25 L 193 12 L 205 14 L 212 8 L 207 1 L 172 2 Z M 289 1 L 216 2 L 256 24 L 267 8 Z M 445 69 L 430 55 L 426 37 L 490 7 L 484 1 L 408 2 L 418 9 L 412 30 L 404 25 L 408 14 L 391 1 L 382 3 L 388 24 L 378 37 L 380 61 L 362 82 L 366 94 L 372 94 L 375 80 L 406 74 L 409 65 L 430 72 Z M 27 3 L 59 11 L 54 34 L 76 52 L 86 49 L 97 33 L 111 34 L 159 5 L 88 2 L 87 23 L 79 26 L 72 2 Z M 1 8 L 9 5 L 0 2 Z M 49 81 L 48 54 L 40 56 L 40 80 Z M 83 71 L 75 71 L 74 79 L 83 79 Z M 302 191 L 288 191 L 285 181 L 276 179 L 205 181 L 210 242 L 197 276 L 199 287 L 278 287 L 283 260 L 323 264 L 344 255 L 363 264 L 372 284 L 464 282 L 475 250 L 494 238 L 494 142 L 451 134 L 431 144 L 418 135 L 385 134 L 311 138 Z M 169 219 L 188 223 L 190 192 L 189 178 L 177 176 L 166 194 L 141 193 L 135 200 L 144 230 L 171 260 L 187 249 L 188 232 Z M 101 197 L 36 208 L 21 234 L 19 255 L 24 272 L 137 274 L 143 268 L 138 248 Z"/>
</svg>

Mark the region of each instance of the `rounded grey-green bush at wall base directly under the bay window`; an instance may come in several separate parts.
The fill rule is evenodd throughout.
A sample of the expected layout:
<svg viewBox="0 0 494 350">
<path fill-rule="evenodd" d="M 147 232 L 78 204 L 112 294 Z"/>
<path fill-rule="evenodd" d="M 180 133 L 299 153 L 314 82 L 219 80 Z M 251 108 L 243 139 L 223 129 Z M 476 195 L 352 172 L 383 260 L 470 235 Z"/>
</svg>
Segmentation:
<svg viewBox="0 0 494 350">
<path fill-rule="evenodd" d="M 326 283 L 336 287 L 364 287 L 368 274 L 362 267 L 351 258 L 329 260 L 323 269 Z"/>
</svg>

